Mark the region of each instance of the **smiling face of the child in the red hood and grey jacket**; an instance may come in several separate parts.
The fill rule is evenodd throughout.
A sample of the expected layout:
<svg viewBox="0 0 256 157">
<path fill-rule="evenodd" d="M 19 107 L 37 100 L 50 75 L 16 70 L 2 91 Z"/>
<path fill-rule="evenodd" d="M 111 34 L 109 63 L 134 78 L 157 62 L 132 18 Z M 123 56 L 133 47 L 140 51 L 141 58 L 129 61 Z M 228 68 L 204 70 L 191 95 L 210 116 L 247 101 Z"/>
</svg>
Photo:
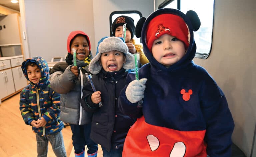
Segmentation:
<svg viewBox="0 0 256 157">
<path fill-rule="evenodd" d="M 84 36 L 77 36 L 74 38 L 70 50 L 76 49 L 76 58 L 83 61 L 89 55 L 89 44 Z M 73 51 L 71 51 L 73 55 Z"/>
</svg>

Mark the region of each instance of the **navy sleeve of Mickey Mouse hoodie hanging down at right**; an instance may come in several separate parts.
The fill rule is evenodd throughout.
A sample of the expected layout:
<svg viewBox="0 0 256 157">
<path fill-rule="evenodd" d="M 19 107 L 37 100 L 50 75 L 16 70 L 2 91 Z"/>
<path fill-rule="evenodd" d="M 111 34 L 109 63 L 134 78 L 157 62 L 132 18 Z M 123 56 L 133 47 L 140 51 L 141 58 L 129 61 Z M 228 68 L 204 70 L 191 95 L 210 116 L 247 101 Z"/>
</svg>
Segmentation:
<svg viewBox="0 0 256 157">
<path fill-rule="evenodd" d="M 211 157 L 231 156 L 234 121 L 224 93 L 209 75 L 204 79 L 199 97 L 206 121 L 207 154 Z"/>
</svg>

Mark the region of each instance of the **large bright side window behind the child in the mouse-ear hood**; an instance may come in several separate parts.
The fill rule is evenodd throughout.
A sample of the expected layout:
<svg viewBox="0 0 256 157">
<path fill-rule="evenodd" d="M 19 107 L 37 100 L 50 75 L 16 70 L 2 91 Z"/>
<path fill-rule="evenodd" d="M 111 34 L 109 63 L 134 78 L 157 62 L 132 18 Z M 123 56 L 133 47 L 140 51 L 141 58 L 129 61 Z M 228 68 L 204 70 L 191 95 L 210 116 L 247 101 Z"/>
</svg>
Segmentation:
<svg viewBox="0 0 256 157">
<path fill-rule="evenodd" d="M 198 14 L 201 26 L 198 31 L 194 32 L 197 45 L 195 57 L 206 59 L 212 46 L 214 0 L 166 0 L 158 8 L 179 9 L 184 14 L 188 10 L 194 10 Z"/>
</svg>

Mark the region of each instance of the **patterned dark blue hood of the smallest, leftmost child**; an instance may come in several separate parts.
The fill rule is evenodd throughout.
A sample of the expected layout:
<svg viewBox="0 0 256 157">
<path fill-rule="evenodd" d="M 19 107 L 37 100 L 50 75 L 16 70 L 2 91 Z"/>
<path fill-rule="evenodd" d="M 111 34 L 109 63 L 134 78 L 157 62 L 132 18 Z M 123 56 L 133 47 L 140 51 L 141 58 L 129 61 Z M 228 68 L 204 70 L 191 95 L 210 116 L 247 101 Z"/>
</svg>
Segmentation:
<svg viewBox="0 0 256 157">
<path fill-rule="evenodd" d="M 39 80 L 39 82 L 37 84 L 32 83 L 28 79 L 26 64 L 29 61 L 34 62 L 39 67 L 39 69 L 41 70 L 41 79 Z M 36 56 L 36 57 L 25 59 L 22 62 L 21 68 L 22 68 L 24 76 L 30 82 L 30 85 L 37 86 L 38 88 L 43 88 L 44 86 L 49 84 L 49 78 L 50 78 L 49 67 L 48 67 L 47 62 L 42 57 Z"/>
</svg>

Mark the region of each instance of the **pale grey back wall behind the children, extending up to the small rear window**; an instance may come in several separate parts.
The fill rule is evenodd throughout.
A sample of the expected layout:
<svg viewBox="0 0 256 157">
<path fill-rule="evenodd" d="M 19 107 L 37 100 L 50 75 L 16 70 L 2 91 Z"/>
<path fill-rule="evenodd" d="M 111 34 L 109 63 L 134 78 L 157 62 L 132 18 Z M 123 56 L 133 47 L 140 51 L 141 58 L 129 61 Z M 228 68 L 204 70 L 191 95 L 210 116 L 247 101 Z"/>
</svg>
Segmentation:
<svg viewBox="0 0 256 157">
<path fill-rule="evenodd" d="M 24 0 L 24 6 L 28 41 L 24 54 L 40 55 L 48 62 L 54 56 L 65 57 L 71 31 L 87 33 L 95 55 L 98 41 L 110 36 L 113 11 L 138 10 L 145 17 L 153 12 L 153 0 Z"/>
</svg>

